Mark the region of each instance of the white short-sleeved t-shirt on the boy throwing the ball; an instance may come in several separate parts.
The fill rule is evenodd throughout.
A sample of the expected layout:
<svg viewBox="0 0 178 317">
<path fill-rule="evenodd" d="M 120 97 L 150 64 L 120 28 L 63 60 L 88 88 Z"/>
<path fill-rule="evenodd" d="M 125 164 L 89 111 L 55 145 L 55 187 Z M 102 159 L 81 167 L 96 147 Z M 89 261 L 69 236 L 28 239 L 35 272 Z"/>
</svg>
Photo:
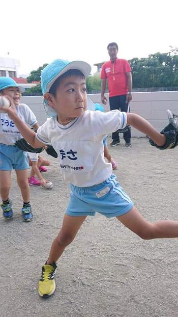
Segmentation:
<svg viewBox="0 0 178 317">
<path fill-rule="evenodd" d="M 52 144 L 65 180 L 78 187 L 88 187 L 112 174 L 111 164 L 104 160 L 103 139 L 126 124 L 125 112 L 87 110 L 67 125 L 58 123 L 57 117 L 47 119 L 38 128 L 36 137 L 44 144 Z"/>
</svg>

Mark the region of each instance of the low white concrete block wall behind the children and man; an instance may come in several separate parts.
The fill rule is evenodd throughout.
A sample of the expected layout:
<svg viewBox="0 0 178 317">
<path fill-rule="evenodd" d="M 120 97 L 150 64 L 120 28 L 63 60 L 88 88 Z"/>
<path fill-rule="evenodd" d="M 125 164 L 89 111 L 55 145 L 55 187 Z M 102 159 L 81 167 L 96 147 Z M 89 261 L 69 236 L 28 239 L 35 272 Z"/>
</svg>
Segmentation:
<svg viewBox="0 0 178 317">
<path fill-rule="evenodd" d="M 101 103 L 100 94 L 91 94 L 89 97 L 93 102 Z M 106 97 L 108 99 L 108 94 Z M 42 97 L 22 97 L 21 101 L 36 114 L 39 124 L 43 124 L 47 115 L 43 108 Z M 133 100 L 130 102 L 130 112 L 139 114 L 158 130 L 161 130 L 168 122 L 167 109 L 178 115 L 178 91 L 136 92 L 133 93 Z M 106 104 L 105 111 L 109 111 L 109 103 Z M 144 136 L 134 128 L 132 128 L 131 134 L 132 137 Z"/>
</svg>

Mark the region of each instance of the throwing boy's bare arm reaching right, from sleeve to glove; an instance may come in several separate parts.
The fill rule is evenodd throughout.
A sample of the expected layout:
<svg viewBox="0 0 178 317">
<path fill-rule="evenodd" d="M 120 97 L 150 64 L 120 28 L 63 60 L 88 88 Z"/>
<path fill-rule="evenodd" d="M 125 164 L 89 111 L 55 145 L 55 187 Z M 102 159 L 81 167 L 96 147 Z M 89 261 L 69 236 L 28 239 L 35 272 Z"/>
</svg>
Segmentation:
<svg viewBox="0 0 178 317">
<path fill-rule="evenodd" d="M 158 146 L 163 146 L 166 143 L 166 137 L 160 134 L 148 121 L 134 113 L 127 113 L 127 125 L 133 126 L 149 136 Z"/>
</svg>

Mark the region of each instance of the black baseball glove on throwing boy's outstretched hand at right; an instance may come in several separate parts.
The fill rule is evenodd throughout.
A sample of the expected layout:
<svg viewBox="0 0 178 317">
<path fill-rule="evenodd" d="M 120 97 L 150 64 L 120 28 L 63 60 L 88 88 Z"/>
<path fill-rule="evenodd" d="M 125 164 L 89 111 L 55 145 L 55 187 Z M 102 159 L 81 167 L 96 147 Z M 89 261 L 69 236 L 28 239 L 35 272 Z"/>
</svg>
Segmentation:
<svg viewBox="0 0 178 317">
<path fill-rule="evenodd" d="M 161 131 L 166 137 L 166 143 L 163 146 L 158 146 L 152 139 L 149 139 L 151 145 L 156 146 L 160 150 L 173 149 L 178 145 L 178 116 L 167 110 L 169 124 Z"/>
</svg>

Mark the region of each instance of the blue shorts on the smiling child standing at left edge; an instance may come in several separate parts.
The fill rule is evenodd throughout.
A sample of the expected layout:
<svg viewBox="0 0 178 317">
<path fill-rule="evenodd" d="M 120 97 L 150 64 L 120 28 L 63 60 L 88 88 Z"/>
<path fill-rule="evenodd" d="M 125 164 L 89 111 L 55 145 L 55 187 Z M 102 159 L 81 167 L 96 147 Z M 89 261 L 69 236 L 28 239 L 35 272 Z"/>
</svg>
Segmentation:
<svg viewBox="0 0 178 317">
<path fill-rule="evenodd" d="M 12 171 L 26 170 L 29 168 L 27 152 L 20 150 L 15 145 L 0 143 L 0 170 Z"/>
</svg>

